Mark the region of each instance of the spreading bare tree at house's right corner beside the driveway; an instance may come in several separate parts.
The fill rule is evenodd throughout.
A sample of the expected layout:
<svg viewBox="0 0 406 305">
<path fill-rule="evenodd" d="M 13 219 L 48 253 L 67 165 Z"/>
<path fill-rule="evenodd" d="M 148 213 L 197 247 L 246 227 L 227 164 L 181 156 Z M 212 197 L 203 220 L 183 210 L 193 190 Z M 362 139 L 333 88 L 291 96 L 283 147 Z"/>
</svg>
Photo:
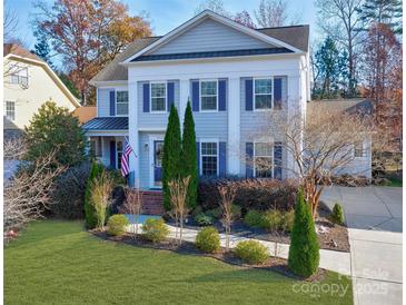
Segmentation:
<svg viewBox="0 0 406 305">
<path fill-rule="evenodd" d="M 266 134 L 273 130 L 283 142 L 293 160 L 284 168 L 299 179 L 314 217 L 325 186 L 355 159 L 355 146 L 375 131 L 369 116 L 331 108 L 317 102 L 308 107 L 306 118 L 301 111 L 289 116 L 273 112 L 263 128 Z"/>
</svg>

